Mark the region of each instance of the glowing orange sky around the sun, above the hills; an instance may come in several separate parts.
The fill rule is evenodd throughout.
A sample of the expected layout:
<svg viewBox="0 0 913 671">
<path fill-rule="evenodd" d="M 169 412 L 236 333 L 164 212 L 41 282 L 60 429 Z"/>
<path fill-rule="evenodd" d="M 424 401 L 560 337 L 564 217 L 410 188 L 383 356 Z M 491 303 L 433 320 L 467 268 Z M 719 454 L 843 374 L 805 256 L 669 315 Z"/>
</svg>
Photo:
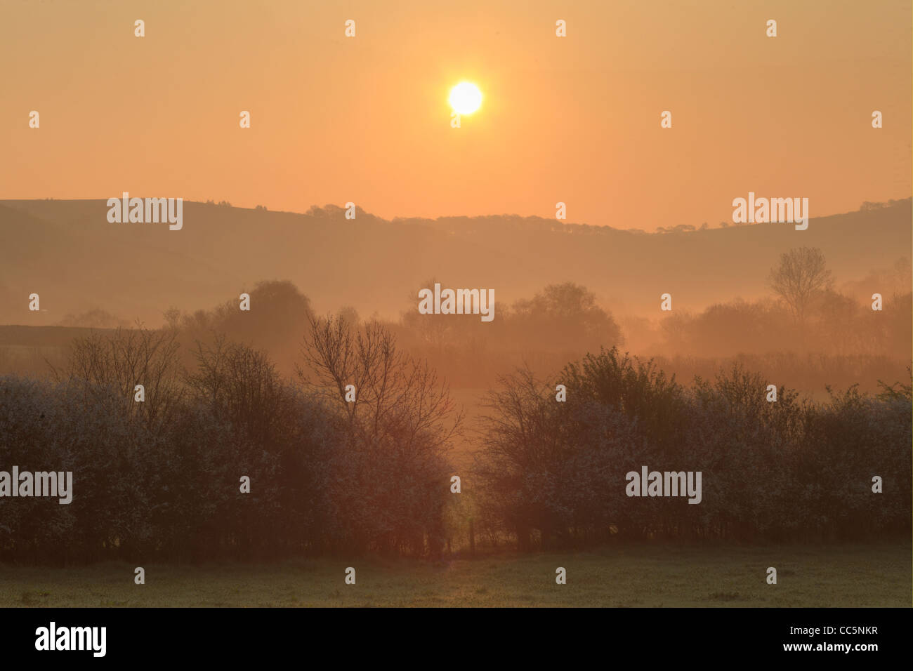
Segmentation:
<svg viewBox="0 0 913 671">
<path fill-rule="evenodd" d="M 834 214 L 910 195 L 910 34 L 900 1 L 0 0 L 0 198 L 563 201 L 653 230 L 731 221 L 754 191 Z M 464 79 L 485 98 L 452 129 Z"/>
</svg>

